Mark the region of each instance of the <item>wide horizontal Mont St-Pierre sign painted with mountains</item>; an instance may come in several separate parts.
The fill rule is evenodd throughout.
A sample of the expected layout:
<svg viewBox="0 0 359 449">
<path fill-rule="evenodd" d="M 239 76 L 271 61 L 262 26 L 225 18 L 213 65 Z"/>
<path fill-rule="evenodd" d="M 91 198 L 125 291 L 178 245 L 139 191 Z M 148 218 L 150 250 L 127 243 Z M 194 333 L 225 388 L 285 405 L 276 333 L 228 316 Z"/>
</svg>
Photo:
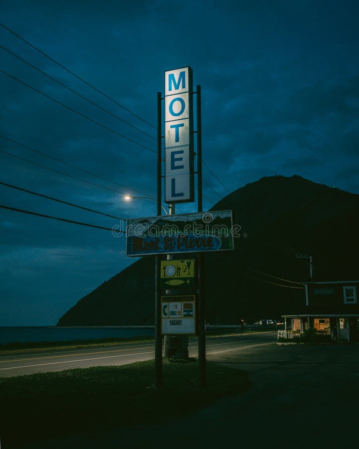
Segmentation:
<svg viewBox="0 0 359 449">
<path fill-rule="evenodd" d="M 132 219 L 127 221 L 126 254 L 136 257 L 231 250 L 234 227 L 232 211 Z"/>
</svg>

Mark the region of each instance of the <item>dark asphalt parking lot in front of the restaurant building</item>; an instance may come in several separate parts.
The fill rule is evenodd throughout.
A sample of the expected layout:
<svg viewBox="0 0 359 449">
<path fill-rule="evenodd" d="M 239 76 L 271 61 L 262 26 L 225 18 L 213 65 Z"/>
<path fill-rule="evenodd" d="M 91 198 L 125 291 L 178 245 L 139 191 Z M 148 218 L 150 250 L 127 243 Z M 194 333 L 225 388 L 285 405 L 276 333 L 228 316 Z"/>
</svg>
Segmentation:
<svg viewBox="0 0 359 449">
<path fill-rule="evenodd" d="M 252 342 L 207 355 L 246 370 L 242 394 L 182 419 L 73 435 L 32 448 L 336 448 L 357 446 L 359 345 L 279 346 Z M 169 398 L 169 413 L 171 402 Z"/>
</svg>

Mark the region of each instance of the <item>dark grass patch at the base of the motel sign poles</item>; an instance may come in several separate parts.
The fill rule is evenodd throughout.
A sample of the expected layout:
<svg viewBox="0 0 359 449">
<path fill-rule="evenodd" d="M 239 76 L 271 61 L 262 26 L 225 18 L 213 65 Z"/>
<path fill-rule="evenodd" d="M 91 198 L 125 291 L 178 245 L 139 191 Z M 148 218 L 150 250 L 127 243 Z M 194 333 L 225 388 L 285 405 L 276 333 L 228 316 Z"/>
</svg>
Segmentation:
<svg viewBox="0 0 359 449">
<path fill-rule="evenodd" d="M 198 387 L 196 361 L 164 359 L 164 387 L 154 388 L 154 361 L 0 379 L 4 448 L 91 430 L 173 420 L 248 388 L 241 370 L 207 364 Z M 169 400 L 170 399 L 170 400 Z"/>
</svg>

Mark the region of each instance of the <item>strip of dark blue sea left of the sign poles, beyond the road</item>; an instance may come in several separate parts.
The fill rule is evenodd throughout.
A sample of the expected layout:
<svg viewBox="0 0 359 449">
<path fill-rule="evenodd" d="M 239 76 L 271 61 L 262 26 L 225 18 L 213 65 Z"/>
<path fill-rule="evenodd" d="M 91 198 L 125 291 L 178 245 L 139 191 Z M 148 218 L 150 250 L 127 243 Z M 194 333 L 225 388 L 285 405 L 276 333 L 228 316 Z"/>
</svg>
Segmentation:
<svg viewBox="0 0 359 449">
<path fill-rule="evenodd" d="M 0 326 L 0 344 L 154 336 L 155 326 Z"/>
</svg>

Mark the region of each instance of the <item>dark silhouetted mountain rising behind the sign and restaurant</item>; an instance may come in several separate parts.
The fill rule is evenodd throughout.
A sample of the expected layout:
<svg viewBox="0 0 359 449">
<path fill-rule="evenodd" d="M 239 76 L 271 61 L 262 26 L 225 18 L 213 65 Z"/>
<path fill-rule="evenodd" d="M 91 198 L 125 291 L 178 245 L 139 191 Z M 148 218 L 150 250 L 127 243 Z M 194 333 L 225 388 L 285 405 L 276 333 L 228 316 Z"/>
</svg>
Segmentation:
<svg viewBox="0 0 359 449">
<path fill-rule="evenodd" d="M 295 282 L 310 280 L 309 259 L 298 253 L 312 255 L 313 280 L 358 279 L 359 195 L 275 176 L 212 208 L 228 209 L 241 236 L 234 251 L 204 255 L 206 322 L 275 319 L 302 308 L 305 293 Z M 82 298 L 58 325 L 154 324 L 154 263 L 152 256 L 137 260 Z"/>
</svg>

